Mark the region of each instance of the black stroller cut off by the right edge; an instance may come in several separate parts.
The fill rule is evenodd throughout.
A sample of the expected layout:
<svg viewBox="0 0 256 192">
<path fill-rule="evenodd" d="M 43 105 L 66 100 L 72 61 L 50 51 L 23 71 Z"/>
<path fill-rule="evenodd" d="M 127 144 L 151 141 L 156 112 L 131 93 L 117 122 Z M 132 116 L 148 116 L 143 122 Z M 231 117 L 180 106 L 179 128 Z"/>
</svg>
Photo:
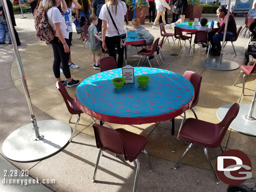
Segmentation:
<svg viewBox="0 0 256 192">
<path fill-rule="evenodd" d="M 245 52 L 245 58 L 244 58 L 244 65 L 248 65 L 249 62 L 249 55 L 253 56 L 254 59 L 256 59 L 256 21 L 251 23 L 249 26 L 249 30 L 251 31 L 250 39 L 248 41 L 246 52 Z"/>
</svg>

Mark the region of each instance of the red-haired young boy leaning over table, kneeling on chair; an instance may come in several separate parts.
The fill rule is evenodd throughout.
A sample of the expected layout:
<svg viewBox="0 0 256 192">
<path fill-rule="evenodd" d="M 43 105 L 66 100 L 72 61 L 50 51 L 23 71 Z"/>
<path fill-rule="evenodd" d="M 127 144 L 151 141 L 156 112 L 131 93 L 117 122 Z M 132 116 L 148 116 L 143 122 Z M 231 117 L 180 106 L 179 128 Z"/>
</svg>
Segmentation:
<svg viewBox="0 0 256 192">
<path fill-rule="evenodd" d="M 152 44 L 154 42 L 154 36 L 150 34 L 149 31 L 147 31 L 143 26 L 141 26 L 141 22 L 138 18 L 133 19 L 131 23 L 133 24 L 134 29 L 128 29 L 128 27 L 126 27 L 126 29 L 129 31 L 135 31 L 138 39 L 145 39 L 146 50 L 151 51 Z"/>
</svg>

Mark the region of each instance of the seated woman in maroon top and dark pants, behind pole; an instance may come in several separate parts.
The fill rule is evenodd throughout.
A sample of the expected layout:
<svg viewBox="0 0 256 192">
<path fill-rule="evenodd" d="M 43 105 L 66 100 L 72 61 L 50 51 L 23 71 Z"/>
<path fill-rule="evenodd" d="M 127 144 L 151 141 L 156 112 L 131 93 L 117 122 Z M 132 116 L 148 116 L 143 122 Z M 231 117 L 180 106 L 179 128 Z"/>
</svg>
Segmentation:
<svg viewBox="0 0 256 192">
<path fill-rule="evenodd" d="M 225 29 L 225 24 L 227 19 L 227 9 L 225 7 L 219 7 L 217 9 L 217 17 L 219 18 L 219 21 L 217 23 L 218 28 L 213 29 L 208 34 L 208 39 L 212 44 L 212 49 L 211 49 L 212 56 L 220 55 L 221 41 L 223 40 L 224 29 Z M 225 41 L 232 41 L 236 38 L 236 36 L 237 34 L 236 34 L 235 18 L 232 14 L 229 14 Z"/>
</svg>

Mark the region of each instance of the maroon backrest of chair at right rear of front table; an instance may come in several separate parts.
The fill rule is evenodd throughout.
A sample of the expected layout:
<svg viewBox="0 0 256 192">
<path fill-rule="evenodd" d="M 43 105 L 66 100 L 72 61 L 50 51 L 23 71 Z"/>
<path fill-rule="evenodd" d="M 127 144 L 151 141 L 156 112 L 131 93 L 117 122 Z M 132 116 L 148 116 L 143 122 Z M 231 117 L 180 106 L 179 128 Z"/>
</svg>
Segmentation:
<svg viewBox="0 0 256 192">
<path fill-rule="evenodd" d="M 189 80 L 194 87 L 195 97 L 191 104 L 191 108 L 193 108 L 194 106 L 197 105 L 198 100 L 199 100 L 202 76 L 193 71 L 185 71 L 185 73 L 183 74 L 183 77 L 185 77 L 187 80 Z"/>
</svg>

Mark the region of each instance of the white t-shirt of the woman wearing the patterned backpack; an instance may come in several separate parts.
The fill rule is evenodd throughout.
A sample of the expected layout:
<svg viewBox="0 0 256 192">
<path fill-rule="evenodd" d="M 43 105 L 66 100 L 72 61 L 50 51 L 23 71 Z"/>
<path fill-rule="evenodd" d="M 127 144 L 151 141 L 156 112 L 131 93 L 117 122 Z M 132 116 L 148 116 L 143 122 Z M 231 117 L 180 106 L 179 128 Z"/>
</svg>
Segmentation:
<svg viewBox="0 0 256 192">
<path fill-rule="evenodd" d="M 57 7 L 52 7 L 47 11 L 47 18 L 52 31 L 55 31 L 53 24 L 60 23 L 60 30 L 62 31 L 64 38 L 68 39 L 69 32 L 65 18 L 61 15 L 60 10 Z M 55 33 L 55 36 L 58 36 L 57 33 Z"/>
</svg>

